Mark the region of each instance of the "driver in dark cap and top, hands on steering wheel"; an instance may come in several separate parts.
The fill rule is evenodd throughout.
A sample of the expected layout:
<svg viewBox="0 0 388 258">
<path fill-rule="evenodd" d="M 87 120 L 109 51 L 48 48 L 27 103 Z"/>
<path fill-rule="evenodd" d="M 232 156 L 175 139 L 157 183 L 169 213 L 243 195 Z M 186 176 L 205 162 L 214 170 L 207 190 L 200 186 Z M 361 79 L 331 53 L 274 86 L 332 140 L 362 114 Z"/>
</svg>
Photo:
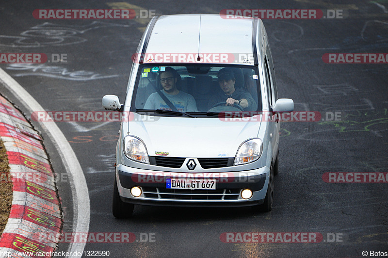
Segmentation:
<svg viewBox="0 0 388 258">
<path fill-rule="evenodd" d="M 211 109 L 215 104 L 224 102 L 226 106 L 240 105 L 244 110 L 256 111 L 257 104 L 252 95 L 243 91 L 241 88 L 236 89 L 234 84 L 236 79 L 233 70 L 230 68 L 223 68 L 218 72 L 218 84 L 220 91 L 216 95 L 210 97 L 208 109 Z"/>
</svg>

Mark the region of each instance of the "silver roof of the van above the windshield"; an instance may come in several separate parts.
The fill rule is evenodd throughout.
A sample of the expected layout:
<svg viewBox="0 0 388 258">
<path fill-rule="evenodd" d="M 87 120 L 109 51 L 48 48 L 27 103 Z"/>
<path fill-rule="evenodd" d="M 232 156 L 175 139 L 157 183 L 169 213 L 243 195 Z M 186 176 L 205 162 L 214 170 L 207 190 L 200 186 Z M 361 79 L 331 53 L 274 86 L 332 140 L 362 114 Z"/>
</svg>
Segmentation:
<svg viewBox="0 0 388 258">
<path fill-rule="evenodd" d="M 163 63 L 192 63 L 190 58 L 194 55 L 196 59 L 199 52 L 202 57 L 208 57 L 202 62 L 216 63 L 217 54 L 220 54 L 220 63 L 252 65 L 253 24 L 254 19 L 247 17 L 227 19 L 226 16 L 204 14 L 160 16 L 153 28 L 148 27 L 144 63 L 160 63 L 161 59 Z M 258 26 L 261 24 L 259 22 Z M 173 53 L 181 54 L 181 59 L 178 55 L 174 59 L 174 55 L 171 56 Z M 240 58 L 238 54 L 241 54 Z M 166 60 L 167 56 L 169 60 Z M 243 59 L 244 56 L 250 59 Z M 174 62 L 176 60 L 178 62 Z M 198 62 L 195 60 L 195 63 Z"/>
</svg>

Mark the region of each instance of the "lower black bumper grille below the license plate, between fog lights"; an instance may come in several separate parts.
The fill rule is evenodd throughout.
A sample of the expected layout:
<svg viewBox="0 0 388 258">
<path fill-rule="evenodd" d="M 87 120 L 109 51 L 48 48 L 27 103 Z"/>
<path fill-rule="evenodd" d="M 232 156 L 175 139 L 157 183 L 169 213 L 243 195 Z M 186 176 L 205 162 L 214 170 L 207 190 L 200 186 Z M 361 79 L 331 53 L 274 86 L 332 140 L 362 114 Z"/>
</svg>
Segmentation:
<svg viewBox="0 0 388 258">
<path fill-rule="evenodd" d="M 165 200 L 238 200 L 241 189 L 191 190 L 142 187 L 146 198 Z"/>
</svg>

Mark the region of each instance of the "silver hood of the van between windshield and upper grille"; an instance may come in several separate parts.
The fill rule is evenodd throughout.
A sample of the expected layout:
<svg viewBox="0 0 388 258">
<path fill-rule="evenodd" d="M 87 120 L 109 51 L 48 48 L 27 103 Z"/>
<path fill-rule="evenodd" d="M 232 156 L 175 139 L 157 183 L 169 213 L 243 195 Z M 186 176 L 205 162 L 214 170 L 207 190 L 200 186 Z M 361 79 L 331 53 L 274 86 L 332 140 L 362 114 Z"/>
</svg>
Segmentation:
<svg viewBox="0 0 388 258">
<path fill-rule="evenodd" d="M 133 114 L 129 135 L 145 143 L 149 156 L 164 152 L 169 157 L 233 158 L 242 142 L 257 137 L 260 128 L 258 121 L 165 116 L 141 116 L 148 121 L 140 121 Z"/>
</svg>

